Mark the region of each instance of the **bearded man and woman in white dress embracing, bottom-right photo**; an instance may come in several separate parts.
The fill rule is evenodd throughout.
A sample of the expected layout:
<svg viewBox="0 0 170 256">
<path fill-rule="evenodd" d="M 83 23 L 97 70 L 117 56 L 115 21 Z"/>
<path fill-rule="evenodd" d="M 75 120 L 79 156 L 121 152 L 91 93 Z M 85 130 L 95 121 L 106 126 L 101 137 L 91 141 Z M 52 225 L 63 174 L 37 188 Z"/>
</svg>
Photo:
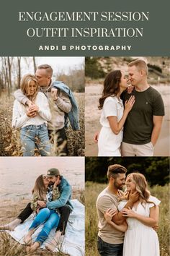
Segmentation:
<svg viewBox="0 0 170 256">
<path fill-rule="evenodd" d="M 160 200 L 151 196 L 145 176 L 108 167 L 108 186 L 97 197 L 101 256 L 160 256 L 156 229 Z M 126 193 L 122 192 L 126 184 Z"/>
</svg>

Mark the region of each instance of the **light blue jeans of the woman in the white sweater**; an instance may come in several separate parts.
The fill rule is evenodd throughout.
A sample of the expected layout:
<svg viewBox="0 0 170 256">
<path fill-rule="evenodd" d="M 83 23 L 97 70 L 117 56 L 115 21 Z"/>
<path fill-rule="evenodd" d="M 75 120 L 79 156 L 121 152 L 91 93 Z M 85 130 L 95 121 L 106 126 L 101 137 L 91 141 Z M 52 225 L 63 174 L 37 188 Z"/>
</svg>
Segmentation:
<svg viewBox="0 0 170 256">
<path fill-rule="evenodd" d="M 34 155 L 35 148 L 39 150 L 42 156 L 50 155 L 51 145 L 48 137 L 48 128 L 45 124 L 22 127 L 20 137 L 23 156 Z"/>
</svg>

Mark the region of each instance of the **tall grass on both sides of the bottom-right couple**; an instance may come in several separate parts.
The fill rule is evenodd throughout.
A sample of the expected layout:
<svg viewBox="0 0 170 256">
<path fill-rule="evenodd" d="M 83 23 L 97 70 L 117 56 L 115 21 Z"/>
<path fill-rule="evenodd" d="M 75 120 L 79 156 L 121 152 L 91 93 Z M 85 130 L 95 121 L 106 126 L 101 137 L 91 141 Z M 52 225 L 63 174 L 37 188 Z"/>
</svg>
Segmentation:
<svg viewBox="0 0 170 256">
<path fill-rule="evenodd" d="M 86 256 L 98 256 L 97 252 L 97 210 L 96 200 L 106 184 L 86 182 Z M 158 223 L 158 239 L 160 256 L 169 256 L 169 186 L 154 186 L 150 189 L 151 195 L 161 200 L 160 218 Z M 138 255 L 136 255 L 138 256 Z"/>
</svg>

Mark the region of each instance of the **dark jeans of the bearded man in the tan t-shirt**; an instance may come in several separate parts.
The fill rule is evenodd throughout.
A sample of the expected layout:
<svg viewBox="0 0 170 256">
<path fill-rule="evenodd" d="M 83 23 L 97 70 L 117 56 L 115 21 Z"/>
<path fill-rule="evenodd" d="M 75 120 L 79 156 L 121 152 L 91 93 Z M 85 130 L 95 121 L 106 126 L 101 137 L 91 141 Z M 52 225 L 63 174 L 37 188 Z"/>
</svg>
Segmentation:
<svg viewBox="0 0 170 256">
<path fill-rule="evenodd" d="M 122 256 L 123 244 L 108 244 L 98 236 L 97 249 L 101 256 Z"/>
</svg>

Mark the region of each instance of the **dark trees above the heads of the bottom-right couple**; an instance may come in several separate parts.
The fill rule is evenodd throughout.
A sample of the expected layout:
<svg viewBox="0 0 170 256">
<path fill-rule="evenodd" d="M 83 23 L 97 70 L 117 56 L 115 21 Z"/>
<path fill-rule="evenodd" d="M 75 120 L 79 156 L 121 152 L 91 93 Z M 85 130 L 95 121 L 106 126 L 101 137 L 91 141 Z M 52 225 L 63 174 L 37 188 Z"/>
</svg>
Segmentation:
<svg viewBox="0 0 170 256">
<path fill-rule="evenodd" d="M 125 166 L 128 174 L 134 171 L 144 174 L 151 186 L 156 184 L 164 186 L 169 183 L 169 158 L 167 157 L 86 157 L 86 181 L 107 182 L 107 168 L 115 163 Z"/>
</svg>

